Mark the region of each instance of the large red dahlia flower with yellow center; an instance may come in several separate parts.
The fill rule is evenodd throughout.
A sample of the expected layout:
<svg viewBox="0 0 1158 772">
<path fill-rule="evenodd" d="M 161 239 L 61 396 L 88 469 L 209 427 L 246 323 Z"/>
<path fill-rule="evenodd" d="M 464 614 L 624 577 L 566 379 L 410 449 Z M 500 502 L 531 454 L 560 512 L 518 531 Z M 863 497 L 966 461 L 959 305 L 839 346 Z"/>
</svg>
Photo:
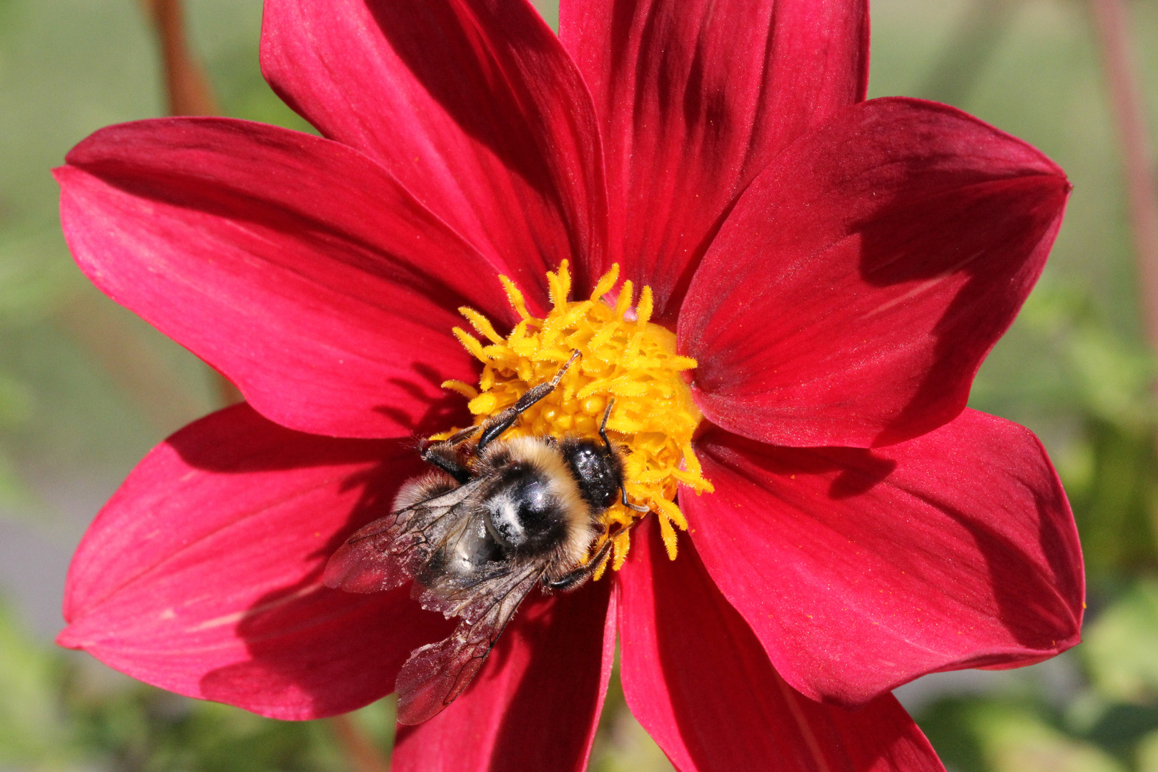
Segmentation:
<svg viewBox="0 0 1158 772">
<path fill-rule="evenodd" d="M 532 425 L 589 432 L 622 397 L 610 428 L 653 514 L 621 569 L 534 594 L 471 688 L 400 731 L 395 769 L 581 769 L 616 637 L 628 705 L 681 770 L 940 769 L 889 690 L 1078 639 L 1056 475 L 965 407 L 1065 177 L 952 108 L 865 102 L 863 1 L 560 13 L 556 37 L 525 0 L 269 0 L 265 75 L 324 139 L 161 119 L 68 155 L 82 270 L 249 404 L 175 434 L 101 512 L 60 642 L 283 719 L 387 694 L 450 623 L 322 572 L 420 471 L 415 438 L 471 420 L 440 384 L 485 413 L 557 368 L 558 336 L 618 336 L 626 380 L 585 355 Z M 564 259 L 591 301 L 548 281 Z M 613 265 L 651 287 L 636 311 L 596 287 Z M 460 306 L 485 348 L 450 333 Z M 632 396 L 665 358 L 688 385 Z M 676 403 L 683 439 L 631 422 Z"/>
</svg>

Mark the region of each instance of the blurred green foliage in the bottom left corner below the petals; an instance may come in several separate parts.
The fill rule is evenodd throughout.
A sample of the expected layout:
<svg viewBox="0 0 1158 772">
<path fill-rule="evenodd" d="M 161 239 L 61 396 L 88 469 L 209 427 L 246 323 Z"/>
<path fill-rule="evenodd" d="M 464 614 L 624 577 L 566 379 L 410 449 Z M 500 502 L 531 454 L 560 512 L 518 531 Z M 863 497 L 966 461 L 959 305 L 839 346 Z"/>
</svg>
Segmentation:
<svg viewBox="0 0 1158 772">
<path fill-rule="evenodd" d="M 388 701 L 353 714 L 368 735 Z M 31 640 L 0 606 L 0 769 L 132 772 L 346 770 L 325 722 L 283 722 L 191 700 Z"/>
</svg>

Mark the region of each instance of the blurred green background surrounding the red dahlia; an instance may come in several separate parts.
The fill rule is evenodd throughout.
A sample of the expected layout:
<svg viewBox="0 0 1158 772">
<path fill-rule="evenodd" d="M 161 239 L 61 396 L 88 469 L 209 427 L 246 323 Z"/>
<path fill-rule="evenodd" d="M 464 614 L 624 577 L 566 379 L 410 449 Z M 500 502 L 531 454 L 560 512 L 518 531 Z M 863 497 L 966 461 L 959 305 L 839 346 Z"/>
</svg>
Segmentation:
<svg viewBox="0 0 1158 772">
<path fill-rule="evenodd" d="M 556 3 L 536 6 L 556 23 Z M 261 0 L 186 9 L 225 113 L 308 130 L 261 78 Z M 1158 0 L 1130 12 L 1158 126 Z M 75 271 L 47 174 L 91 131 L 160 115 L 159 72 L 139 0 L 0 0 L 0 514 L 46 531 L 69 517 L 60 501 L 96 491 L 98 505 L 153 443 L 215 404 L 200 362 Z M 1075 184 L 1046 274 L 970 404 L 1033 428 L 1065 483 L 1090 583 L 1086 644 L 1068 660 L 1078 672 L 1061 693 L 1033 668 L 987 693 L 946 694 L 918 722 L 959 772 L 1158 772 L 1158 367 L 1139 332 L 1087 3 L 875 0 L 870 93 L 955 104 L 1043 149 Z M 75 539 L 75 528 L 61 532 Z M 354 720 L 388 749 L 388 700 Z M 0 608 L 0 767 L 349 762 L 324 722 L 274 722 L 137 684 L 31 638 Z M 669 769 L 613 689 L 592 770 Z"/>
</svg>

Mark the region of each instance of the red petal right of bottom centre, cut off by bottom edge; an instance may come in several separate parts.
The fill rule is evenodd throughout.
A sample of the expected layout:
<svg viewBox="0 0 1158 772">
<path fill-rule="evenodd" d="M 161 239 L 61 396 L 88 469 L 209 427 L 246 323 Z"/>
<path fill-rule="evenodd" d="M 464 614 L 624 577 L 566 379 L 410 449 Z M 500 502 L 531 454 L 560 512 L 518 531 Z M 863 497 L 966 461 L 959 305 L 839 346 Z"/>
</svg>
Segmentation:
<svg viewBox="0 0 1158 772">
<path fill-rule="evenodd" d="M 655 529 L 621 572 L 623 692 L 683 772 L 940 771 L 892 694 L 851 712 L 814 703 L 780 678 L 720 595 L 695 547 L 668 560 Z"/>
</svg>

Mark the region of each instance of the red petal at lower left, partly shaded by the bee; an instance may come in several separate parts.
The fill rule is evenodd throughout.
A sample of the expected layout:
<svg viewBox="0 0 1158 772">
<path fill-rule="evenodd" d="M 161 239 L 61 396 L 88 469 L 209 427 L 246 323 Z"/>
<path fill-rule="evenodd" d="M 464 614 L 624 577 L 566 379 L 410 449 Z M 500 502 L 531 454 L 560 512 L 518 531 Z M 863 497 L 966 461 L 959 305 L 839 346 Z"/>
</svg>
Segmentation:
<svg viewBox="0 0 1158 772">
<path fill-rule="evenodd" d="M 327 558 L 417 470 L 400 442 L 332 440 L 247 405 L 174 434 L 129 476 L 68 572 L 59 642 L 191 697 L 312 719 L 389 693 L 448 634 L 406 588 L 327 589 Z"/>
</svg>

